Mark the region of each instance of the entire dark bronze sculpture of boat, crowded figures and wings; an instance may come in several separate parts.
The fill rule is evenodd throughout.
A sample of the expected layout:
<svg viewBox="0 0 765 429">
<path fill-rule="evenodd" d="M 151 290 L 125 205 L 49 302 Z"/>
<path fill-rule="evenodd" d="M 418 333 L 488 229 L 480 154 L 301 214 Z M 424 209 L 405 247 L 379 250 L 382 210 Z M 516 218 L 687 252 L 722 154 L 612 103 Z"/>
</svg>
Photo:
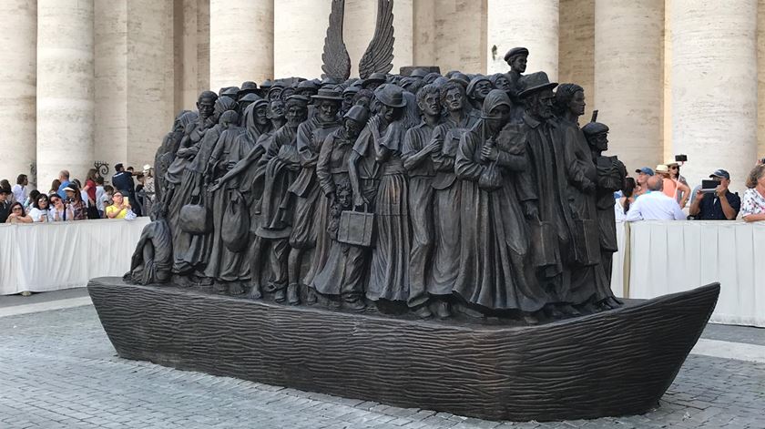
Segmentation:
<svg viewBox="0 0 765 429">
<path fill-rule="evenodd" d="M 88 286 L 119 355 L 498 419 L 655 406 L 719 285 L 614 298 L 625 168 L 579 128 L 581 87 L 524 76 L 525 48 L 492 77 L 388 75 L 393 0 L 348 78 L 343 5 L 321 80 L 205 91 L 174 122 L 131 271 Z"/>
</svg>

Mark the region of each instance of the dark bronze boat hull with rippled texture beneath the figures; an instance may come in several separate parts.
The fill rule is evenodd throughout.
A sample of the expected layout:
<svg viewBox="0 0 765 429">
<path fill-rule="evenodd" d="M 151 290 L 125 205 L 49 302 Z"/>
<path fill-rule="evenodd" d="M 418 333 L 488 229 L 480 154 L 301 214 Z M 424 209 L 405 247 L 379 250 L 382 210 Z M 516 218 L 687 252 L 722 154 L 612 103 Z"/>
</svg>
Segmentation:
<svg viewBox="0 0 765 429">
<path fill-rule="evenodd" d="M 719 284 L 538 326 L 419 321 L 90 281 L 119 356 L 492 420 L 641 414 L 699 339 Z"/>
</svg>

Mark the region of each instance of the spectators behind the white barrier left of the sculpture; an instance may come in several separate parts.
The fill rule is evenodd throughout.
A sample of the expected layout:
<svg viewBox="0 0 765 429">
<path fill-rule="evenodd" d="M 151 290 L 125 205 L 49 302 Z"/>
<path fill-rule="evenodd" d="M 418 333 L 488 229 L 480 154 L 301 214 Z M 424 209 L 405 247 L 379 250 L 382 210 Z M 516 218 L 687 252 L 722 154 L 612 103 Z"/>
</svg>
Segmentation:
<svg viewBox="0 0 765 429">
<path fill-rule="evenodd" d="M 90 169 L 83 186 L 64 169 L 48 190 L 29 189 L 26 174 L 18 175 L 14 186 L 0 180 L 0 223 L 130 220 L 148 215 L 155 198 L 151 166 L 136 173 L 117 164 L 115 171 L 109 185 L 97 169 Z"/>
</svg>

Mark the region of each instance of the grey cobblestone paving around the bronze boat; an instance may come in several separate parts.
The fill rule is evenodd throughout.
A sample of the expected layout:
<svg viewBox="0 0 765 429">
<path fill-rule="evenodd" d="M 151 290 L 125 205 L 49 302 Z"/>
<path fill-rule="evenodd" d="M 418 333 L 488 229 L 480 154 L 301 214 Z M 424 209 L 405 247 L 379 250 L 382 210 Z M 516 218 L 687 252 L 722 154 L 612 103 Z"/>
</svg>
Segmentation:
<svg viewBox="0 0 765 429">
<path fill-rule="evenodd" d="M 487 422 L 117 357 L 93 307 L 0 318 L 0 428 L 765 428 L 765 364 L 691 355 L 645 415 Z"/>
</svg>

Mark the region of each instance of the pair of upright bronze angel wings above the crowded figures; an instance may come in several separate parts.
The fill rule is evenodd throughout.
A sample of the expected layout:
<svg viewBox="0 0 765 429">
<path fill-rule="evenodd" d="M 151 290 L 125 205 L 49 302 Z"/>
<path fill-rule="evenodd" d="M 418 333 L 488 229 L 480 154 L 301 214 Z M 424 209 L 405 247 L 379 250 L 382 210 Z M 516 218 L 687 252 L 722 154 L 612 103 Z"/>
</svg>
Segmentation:
<svg viewBox="0 0 765 429">
<path fill-rule="evenodd" d="M 332 0 L 330 26 L 324 38 L 321 69 L 327 77 L 344 81 L 351 76 L 351 57 L 342 41 L 345 0 Z M 393 68 L 393 0 L 377 0 L 377 24 L 374 36 L 359 62 L 359 77 L 388 73 Z"/>
</svg>

